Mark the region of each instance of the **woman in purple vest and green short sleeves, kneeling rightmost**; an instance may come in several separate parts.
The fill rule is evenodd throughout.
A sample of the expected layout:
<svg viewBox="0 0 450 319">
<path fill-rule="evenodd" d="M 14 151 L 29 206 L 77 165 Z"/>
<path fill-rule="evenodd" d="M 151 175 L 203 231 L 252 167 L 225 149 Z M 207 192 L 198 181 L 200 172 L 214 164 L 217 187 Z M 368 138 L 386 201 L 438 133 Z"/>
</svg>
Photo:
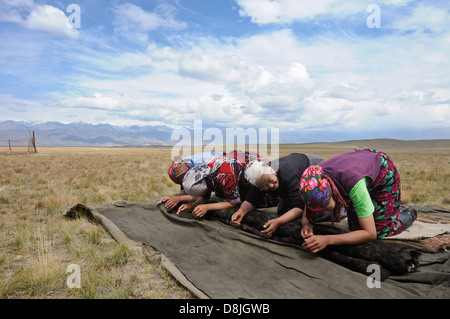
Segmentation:
<svg viewBox="0 0 450 319">
<path fill-rule="evenodd" d="M 328 245 L 362 244 L 401 233 L 417 218 L 417 212 L 400 207 L 400 176 L 389 156 L 377 150 L 356 150 L 308 167 L 300 182 L 305 203 L 302 216 L 303 247 L 314 253 Z M 333 211 L 340 220 L 347 210 L 350 232 L 313 234 L 314 216 Z"/>
</svg>

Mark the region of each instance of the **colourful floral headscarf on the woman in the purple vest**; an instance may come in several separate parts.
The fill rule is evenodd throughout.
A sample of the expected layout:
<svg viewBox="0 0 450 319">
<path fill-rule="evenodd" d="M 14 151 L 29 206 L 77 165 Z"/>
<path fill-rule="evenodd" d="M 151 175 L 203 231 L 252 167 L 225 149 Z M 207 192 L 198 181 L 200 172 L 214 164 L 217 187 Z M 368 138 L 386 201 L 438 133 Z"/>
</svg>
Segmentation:
<svg viewBox="0 0 450 319">
<path fill-rule="evenodd" d="M 300 196 L 311 211 L 321 211 L 331 200 L 333 190 L 322 167 L 310 166 L 300 180 Z"/>
</svg>

